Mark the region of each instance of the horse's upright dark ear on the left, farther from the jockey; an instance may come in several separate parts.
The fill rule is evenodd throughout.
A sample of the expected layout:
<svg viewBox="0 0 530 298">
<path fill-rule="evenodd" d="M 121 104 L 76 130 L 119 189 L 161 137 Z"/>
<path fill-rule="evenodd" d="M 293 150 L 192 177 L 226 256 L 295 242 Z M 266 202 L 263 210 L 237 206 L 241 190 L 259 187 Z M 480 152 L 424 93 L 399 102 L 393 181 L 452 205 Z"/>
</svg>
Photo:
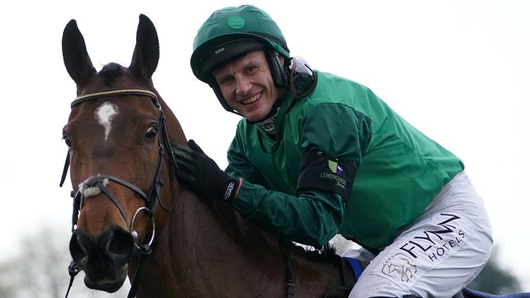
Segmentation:
<svg viewBox="0 0 530 298">
<path fill-rule="evenodd" d="M 96 72 L 86 51 L 85 39 L 77 28 L 75 19 L 66 24 L 63 31 L 63 60 L 70 77 L 79 85 Z"/>
</svg>

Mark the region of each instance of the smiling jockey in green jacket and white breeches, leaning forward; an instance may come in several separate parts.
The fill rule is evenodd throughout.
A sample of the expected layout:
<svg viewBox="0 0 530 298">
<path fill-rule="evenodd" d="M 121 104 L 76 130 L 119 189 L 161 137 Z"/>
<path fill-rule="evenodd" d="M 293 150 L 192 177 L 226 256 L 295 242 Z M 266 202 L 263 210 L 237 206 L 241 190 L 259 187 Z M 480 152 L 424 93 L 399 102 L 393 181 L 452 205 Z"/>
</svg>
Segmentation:
<svg viewBox="0 0 530 298">
<path fill-rule="evenodd" d="M 191 68 L 242 116 L 228 167 L 190 140 L 177 177 L 259 228 L 320 247 L 335 235 L 369 255 L 349 297 L 452 297 L 487 263 L 487 211 L 464 163 L 360 83 L 291 57 L 254 6 L 217 10 Z"/>
</svg>

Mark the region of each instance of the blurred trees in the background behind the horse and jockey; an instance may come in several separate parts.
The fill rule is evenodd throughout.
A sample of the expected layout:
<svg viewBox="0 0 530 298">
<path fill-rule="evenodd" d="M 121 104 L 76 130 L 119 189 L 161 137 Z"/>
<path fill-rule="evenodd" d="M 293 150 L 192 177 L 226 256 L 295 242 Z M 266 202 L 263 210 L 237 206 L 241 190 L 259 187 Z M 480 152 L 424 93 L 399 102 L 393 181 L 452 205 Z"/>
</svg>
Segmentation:
<svg viewBox="0 0 530 298">
<path fill-rule="evenodd" d="M 69 234 L 61 235 L 51 228 L 43 228 L 36 235 L 23 239 L 16 257 L 0 260 L 0 298 L 64 297 L 70 281 L 69 237 Z M 337 252 L 342 253 L 351 242 L 336 239 L 334 244 Z M 80 272 L 69 297 L 87 297 L 89 293 L 91 297 L 127 297 L 129 284 L 108 294 L 89 290 L 84 286 L 83 278 L 83 272 Z M 517 277 L 500 266 L 497 249 L 493 250 L 488 264 L 469 288 L 495 295 L 521 291 Z"/>
</svg>

